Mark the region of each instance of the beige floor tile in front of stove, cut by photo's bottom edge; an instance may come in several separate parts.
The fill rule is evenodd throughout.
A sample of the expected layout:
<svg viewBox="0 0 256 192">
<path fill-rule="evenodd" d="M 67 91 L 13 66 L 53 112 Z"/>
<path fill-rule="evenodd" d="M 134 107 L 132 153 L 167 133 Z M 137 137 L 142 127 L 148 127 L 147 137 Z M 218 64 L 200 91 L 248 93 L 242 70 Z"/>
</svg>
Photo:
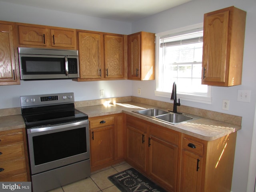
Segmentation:
<svg viewBox="0 0 256 192">
<path fill-rule="evenodd" d="M 64 192 L 98 192 L 100 189 L 92 181 L 91 178 L 86 178 L 72 184 L 62 187 Z"/>
</svg>

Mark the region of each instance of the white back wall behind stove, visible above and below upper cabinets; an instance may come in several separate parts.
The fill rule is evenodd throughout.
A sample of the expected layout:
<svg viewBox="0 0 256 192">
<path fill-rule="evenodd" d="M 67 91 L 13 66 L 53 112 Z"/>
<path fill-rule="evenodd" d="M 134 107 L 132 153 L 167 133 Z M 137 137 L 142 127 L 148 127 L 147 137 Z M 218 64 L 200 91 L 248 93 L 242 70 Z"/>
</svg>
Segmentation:
<svg viewBox="0 0 256 192">
<path fill-rule="evenodd" d="M 0 20 L 24 22 L 48 26 L 59 26 L 82 30 L 93 30 L 117 34 L 130 34 L 131 23 L 113 21 L 78 14 L 56 12 L 28 6 L 0 2 Z M 74 92 L 75 100 L 99 99 L 100 90 L 103 98 L 130 96 L 130 80 L 75 82 L 72 80 L 37 80 L 21 81 L 20 85 L 0 86 L 0 109 L 20 107 L 20 96 Z"/>
</svg>

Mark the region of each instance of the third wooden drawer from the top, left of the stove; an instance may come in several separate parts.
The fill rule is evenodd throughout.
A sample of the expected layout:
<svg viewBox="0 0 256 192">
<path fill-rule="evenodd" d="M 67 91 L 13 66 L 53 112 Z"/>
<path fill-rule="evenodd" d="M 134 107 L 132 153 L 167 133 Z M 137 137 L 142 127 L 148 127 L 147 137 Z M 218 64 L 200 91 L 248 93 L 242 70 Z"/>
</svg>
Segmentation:
<svg viewBox="0 0 256 192">
<path fill-rule="evenodd" d="M 0 179 L 11 177 L 26 172 L 26 160 L 21 158 L 18 160 L 0 162 L 0 168 L 4 169 L 0 172 Z"/>
</svg>

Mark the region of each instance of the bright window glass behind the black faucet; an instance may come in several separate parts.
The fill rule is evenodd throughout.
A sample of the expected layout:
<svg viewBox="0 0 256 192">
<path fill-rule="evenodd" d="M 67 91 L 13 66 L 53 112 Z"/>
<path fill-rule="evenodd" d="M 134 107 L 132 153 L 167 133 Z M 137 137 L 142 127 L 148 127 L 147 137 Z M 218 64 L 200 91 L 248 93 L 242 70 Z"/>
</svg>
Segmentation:
<svg viewBox="0 0 256 192">
<path fill-rule="evenodd" d="M 207 93 L 207 85 L 201 84 L 202 32 L 198 34 L 201 36 L 196 38 L 190 34 L 160 38 L 159 91 L 172 92 L 172 84 L 175 81 L 177 92 Z"/>
</svg>

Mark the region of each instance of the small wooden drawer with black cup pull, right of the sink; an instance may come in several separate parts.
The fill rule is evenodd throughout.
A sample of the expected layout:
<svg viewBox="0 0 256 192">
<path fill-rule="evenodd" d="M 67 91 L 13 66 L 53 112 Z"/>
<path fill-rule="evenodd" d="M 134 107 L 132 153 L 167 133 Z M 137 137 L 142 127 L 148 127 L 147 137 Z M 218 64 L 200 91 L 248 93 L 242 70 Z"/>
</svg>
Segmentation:
<svg viewBox="0 0 256 192">
<path fill-rule="evenodd" d="M 182 141 L 182 148 L 193 153 L 204 155 L 204 142 L 197 140 L 196 138 L 191 138 L 185 136 Z"/>
</svg>

